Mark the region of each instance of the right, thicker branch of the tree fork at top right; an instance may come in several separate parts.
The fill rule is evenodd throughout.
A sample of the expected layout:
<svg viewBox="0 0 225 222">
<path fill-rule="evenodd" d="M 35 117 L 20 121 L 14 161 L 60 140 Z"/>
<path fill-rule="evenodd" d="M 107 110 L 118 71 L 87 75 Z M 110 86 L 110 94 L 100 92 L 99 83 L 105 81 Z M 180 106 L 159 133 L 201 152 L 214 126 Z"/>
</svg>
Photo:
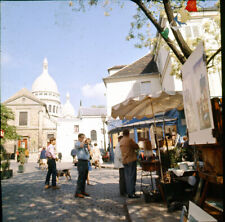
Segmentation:
<svg viewBox="0 0 225 222">
<path fill-rule="evenodd" d="M 173 16 L 173 11 L 172 11 L 172 8 L 171 8 L 171 5 L 170 5 L 170 1 L 169 0 L 163 0 L 163 4 L 164 4 L 164 8 L 165 8 L 165 12 L 166 12 L 166 15 L 167 15 L 168 22 L 169 22 L 169 24 L 171 24 L 171 23 L 174 22 L 174 16 Z M 175 23 L 174 26 L 177 26 L 176 22 L 174 22 L 174 23 Z M 174 35 L 181 51 L 183 52 L 184 56 L 186 58 L 188 58 L 191 55 L 192 50 L 189 48 L 187 43 L 184 41 L 184 38 L 181 35 L 179 30 L 175 31 L 172 28 L 171 28 L 171 30 L 173 32 L 173 35 Z"/>
</svg>

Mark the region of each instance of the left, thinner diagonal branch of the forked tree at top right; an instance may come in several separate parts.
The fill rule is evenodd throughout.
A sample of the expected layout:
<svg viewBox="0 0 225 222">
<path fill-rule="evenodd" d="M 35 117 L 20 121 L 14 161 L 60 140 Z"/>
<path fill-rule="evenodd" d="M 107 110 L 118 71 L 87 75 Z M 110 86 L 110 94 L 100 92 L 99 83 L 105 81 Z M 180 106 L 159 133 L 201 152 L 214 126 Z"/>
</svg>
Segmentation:
<svg viewBox="0 0 225 222">
<path fill-rule="evenodd" d="M 152 24 L 156 27 L 157 31 L 162 36 L 161 32 L 163 31 L 163 28 L 161 25 L 156 21 L 152 13 L 146 8 L 144 3 L 141 0 L 131 0 L 135 4 L 139 6 L 139 8 L 144 12 L 144 14 L 147 16 L 147 18 L 152 22 Z M 177 49 L 177 47 L 174 45 L 173 41 L 170 38 L 165 38 L 162 36 L 162 38 L 165 40 L 165 42 L 168 44 L 168 46 L 172 49 L 174 54 L 176 55 L 177 59 L 184 64 L 186 61 L 186 58 L 181 54 L 181 52 Z"/>
</svg>

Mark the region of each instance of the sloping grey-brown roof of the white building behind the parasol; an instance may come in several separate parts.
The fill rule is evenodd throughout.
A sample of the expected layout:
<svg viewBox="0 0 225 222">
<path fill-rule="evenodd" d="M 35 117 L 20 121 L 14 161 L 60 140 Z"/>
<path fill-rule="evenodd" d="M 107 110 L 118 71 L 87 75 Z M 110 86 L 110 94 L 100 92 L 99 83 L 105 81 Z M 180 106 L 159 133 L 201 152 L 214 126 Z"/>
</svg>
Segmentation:
<svg viewBox="0 0 225 222">
<path fill-rule="evenodd" d="M 156 62 L 154 61 L 154 56 L 149 53 L 132 64 L 125 66 L 115 74 L 104 78 L 104 80 L 143 74 L 156 74 L 158 72 L 159 71 Z"/>
</svg>

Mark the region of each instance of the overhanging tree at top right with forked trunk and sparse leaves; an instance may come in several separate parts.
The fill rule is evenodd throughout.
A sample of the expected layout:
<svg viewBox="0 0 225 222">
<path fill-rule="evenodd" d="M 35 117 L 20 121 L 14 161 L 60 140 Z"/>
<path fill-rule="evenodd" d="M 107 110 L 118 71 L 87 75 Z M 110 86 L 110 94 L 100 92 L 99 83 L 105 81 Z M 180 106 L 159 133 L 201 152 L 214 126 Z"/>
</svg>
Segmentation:
<svg viewBox="0 0 225 222">
<path fill-rule="evenodd" d="M 205 1 L 205 0 L 203 0 Z M 84 9 L 84 3 L 82 0 L 79 0 L 79 8 Z M 90 5 L 97 5 L 99 0 L 89 0 Z M 115 2 L 115 1 L 114 1 Z M 119 4 L 121 4 L 121 7 L 123 7 L 124 2 L 123 1 L 117 1 Z M 128 40 L 135 38 L 134 35 L 134 29 L 141 29 L 143 28 L 144 24 L 147 26 L 150 26 L 149 21 L 155 26 L 158 33 L 162 36 L 162 38 L 165 40 L 169 48 L 173 51 L 175 54 L 177 60 L 184 64 L 187 58 L 192 53 L 192 49 L 188 45 L 187 41 L 184 40 L 181 32 L 179 29 L 172 29 L 175 41 L 177 44 L 174 44 L 174 41 L 171 40 L 168 36 L 165 36 L 163 34 L 163 31 L 165 31 L 165 27 L 162 27 L 161 24 L 157 21 L 160 15 L 163 13 L 166 14 L 168 22 L 170 24 L 173 24 L 173 26 L 177 26 L 176 22 L 174 22 L 174 13 L 176 13 L 178 10 L 183 8 L 183 5 L 185 0 L 130 0 L 130 2 L 133 2 L 137 6 L 137 14 L 134 15 L 135 22 L 131 23 L 131 31 L 129 33 L 129 36 L 127 37 Z M 197 0 L 197 3 L 202 2 L 201 0 Z M 72 6 L 72 1 L 70 2 L 70 6 Z M 109 5 L 109 0 L 105 0 L 103 6 L 107 7 Z M 217 3 L 217 6 L 219 6 L 219 1 Z M 109 11 L 112 10 L 112 8 L 109 8 Z M 186 10 L 185 10 L 186 11 Z M 105 12 L 105 15 L 108 16 L 109 12 Z M 139 40 L 144 42 L 144 46 L 149 46 L 149 43 L 151 43 L 152 38 L 147 38 L 147 41 L 145 40 L 145 36 L 143 33 L 138 32 L 136 35 Z M 142 44 L 136 44 L 137 47 L 141 47 Z M 221 51 L 221 48 L 216 50 L 216 52 L 208 56 L 207 64 L 214 58 L 219 52 Z"/>
</svg>

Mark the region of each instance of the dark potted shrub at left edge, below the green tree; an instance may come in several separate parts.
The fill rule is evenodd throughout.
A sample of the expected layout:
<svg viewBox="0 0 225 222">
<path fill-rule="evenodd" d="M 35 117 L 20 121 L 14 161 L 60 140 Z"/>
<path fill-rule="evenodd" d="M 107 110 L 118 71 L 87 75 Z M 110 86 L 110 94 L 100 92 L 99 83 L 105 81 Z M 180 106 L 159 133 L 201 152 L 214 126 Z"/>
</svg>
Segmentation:
<svg viewBox="0 0 225 222">
<path fill-rule="evenodd" d="M 13 170 L 9 169 L 10 166 L 10 154 L 6 152 L 4 147 L 1 145 L 0 148 L 0 172 L 1 172 L 1 179 L 9 179 L 13 176 Z"/>
</svg>

